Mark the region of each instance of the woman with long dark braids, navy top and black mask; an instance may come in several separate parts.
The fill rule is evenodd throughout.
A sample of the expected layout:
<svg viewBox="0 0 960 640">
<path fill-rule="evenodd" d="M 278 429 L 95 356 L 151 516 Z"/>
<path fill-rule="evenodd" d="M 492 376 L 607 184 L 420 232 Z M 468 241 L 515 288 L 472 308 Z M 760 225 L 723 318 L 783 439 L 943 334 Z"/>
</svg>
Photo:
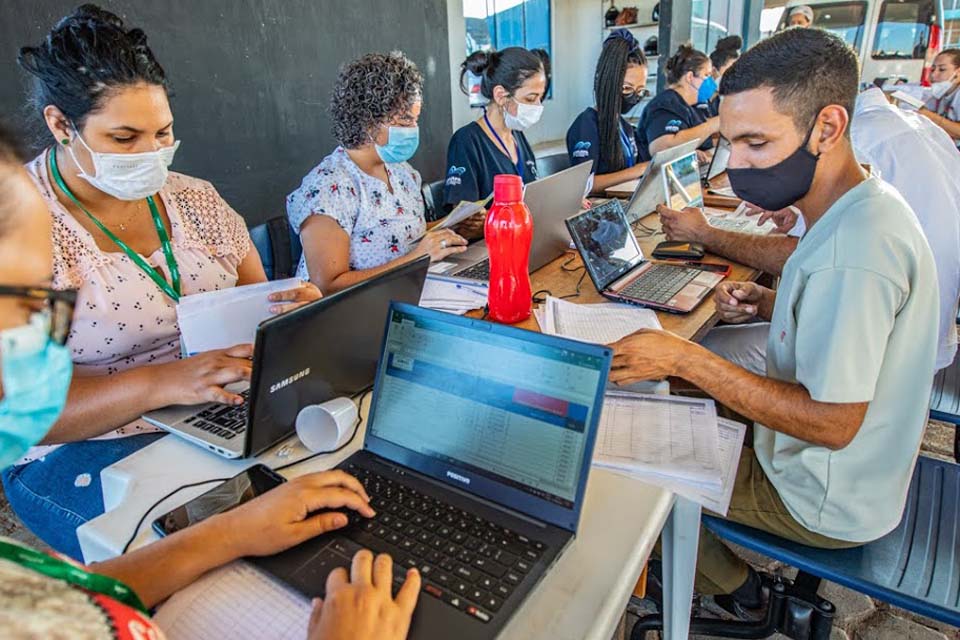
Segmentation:
<svg viewBox="0 0 960 640">
<path fill-rule="evenodd" d="M 572 164 L 593 160 L 593 191 L 636 180 L 650 160 L 646 145 L 624 117 L 649 94 L 647 59 L 637 39 L 617 29 L 603 42 L 593 77 L 595 105 L 587 107 L 567 129 Z"/>
</svg>

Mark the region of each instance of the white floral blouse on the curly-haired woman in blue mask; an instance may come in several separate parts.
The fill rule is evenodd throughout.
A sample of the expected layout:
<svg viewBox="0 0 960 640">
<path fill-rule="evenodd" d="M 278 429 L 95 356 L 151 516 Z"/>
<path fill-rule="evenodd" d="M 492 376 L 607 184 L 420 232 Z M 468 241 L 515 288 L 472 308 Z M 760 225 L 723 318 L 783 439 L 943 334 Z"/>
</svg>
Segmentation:
<svg viewBox="0 0 960 640">
<path fill-rule="evenodd" d="M 379 267 L 406 255 L 426 231 L 420 174 L 406 162 L 386 167 L 393 193 L 337 147 L 287 196 L 290 225 L 300 233 L 312 215 L 333 218 L 350 236 L 354 270 Z M 309 278 L 306 256 L 300 258 L 297 277 Z"/>
</svg>

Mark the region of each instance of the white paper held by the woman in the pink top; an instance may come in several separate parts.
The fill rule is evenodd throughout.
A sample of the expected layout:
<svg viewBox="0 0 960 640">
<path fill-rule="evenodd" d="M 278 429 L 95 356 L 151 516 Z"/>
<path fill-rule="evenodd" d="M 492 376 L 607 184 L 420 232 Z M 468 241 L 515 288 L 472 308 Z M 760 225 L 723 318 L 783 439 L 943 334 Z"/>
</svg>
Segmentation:
<svg viewBox="0 0 960 640">
<path fill-rule="evenodd" d="M 296 289 L 300 280 L 289 278 L 198 293 L 180 299 L 177 323 L 187 355 L 253 344 L 257 325 L 271 317 L 271 293 Z"/>
</svg>

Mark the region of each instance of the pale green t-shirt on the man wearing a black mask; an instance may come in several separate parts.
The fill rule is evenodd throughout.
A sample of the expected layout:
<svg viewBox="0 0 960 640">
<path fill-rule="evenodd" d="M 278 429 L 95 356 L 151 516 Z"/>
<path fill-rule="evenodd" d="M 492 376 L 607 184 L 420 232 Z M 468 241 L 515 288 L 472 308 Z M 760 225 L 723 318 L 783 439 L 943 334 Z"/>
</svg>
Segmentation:
<svg viewBox="0 0 960 640">
<path fill-rule="evenodd" d="M 784 265 L 767 376 L 818 402 L 868 403 L 837 451 L 754 429 L 760 465 L 811 531 L 868 542 L 900 522 L 933 382 L 935 269 L 910 207 L 876 177 L 837 200 Z"/>
</svg>

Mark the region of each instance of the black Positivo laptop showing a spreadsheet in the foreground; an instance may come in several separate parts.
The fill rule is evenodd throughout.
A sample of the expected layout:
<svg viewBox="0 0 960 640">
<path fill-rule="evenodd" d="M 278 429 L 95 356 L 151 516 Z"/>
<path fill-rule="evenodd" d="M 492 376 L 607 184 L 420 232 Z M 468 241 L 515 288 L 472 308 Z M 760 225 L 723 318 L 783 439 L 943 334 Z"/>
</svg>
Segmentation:
<svg viewBox="0 0 960 640">
<path fill-rule="evenodd" d="M 417 567 L 414 640 L 495 638 L 577 532 L 612 351 L 391 305 L 363 449 L 377 515 L 252 562 L 308 597 L 368 548 Z"/>
</svg>

